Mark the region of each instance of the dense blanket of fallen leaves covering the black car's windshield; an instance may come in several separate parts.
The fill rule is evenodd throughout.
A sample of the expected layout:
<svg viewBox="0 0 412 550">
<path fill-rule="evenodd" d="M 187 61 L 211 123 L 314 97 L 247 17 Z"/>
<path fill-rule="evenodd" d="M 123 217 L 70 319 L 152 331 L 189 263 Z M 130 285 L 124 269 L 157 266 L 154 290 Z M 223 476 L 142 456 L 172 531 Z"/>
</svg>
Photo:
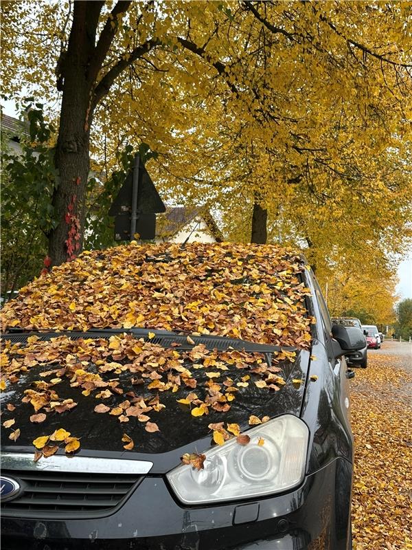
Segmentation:
<svg viewBox="0 0 412 550">
<path fill-rule="evenodd" d="M 306 348 L 299 254 L 273 245 L 126 245 L 83 252 L 19 291 L 3 330 L 145 327 Z"/>
</svg>

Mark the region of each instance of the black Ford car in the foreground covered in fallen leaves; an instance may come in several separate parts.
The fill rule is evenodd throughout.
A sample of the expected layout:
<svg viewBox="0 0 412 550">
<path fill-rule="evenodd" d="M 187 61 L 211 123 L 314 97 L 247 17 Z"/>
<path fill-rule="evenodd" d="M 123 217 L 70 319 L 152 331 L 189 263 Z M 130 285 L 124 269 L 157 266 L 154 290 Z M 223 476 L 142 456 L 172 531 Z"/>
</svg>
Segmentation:
<svg viewBox="0 0 412 550">
<path fill-rule="evenodd" d="M 298 252 L 85 251 L 0 315 L 3 550 L 352 549 L 365 339 Z"/>
</svg>

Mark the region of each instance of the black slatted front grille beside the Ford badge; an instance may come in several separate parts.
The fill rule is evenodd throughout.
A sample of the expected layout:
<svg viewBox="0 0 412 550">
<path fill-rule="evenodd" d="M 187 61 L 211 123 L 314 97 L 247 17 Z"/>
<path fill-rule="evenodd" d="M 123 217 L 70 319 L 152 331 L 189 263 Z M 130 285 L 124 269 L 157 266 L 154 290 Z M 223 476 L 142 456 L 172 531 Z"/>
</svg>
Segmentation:
<svg viewBox="0 0 412 550">
<path fill-rule="evenodd" d="M 133 474 L 80 474 L 1 470 L 21 484 L 16 498 L 1 504 L 5 516 L 36 517 L 43 514 L 81 518 L 113 513 L 144 478 Z"/>
</svg>

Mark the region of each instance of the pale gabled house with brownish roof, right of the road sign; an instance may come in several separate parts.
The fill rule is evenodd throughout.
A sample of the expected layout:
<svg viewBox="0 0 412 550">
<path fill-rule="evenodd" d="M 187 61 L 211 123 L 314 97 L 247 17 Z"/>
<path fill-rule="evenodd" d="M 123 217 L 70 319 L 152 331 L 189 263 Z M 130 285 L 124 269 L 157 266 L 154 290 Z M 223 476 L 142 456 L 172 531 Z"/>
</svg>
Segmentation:
<svg viewBox="0 0 412 550">
<path fill-rule="evenodd" d="M 220 229 L 207 208 L 176 206 L 166 208 L 156 220 L 157 243 L 221 243 Z"/>
</svg>

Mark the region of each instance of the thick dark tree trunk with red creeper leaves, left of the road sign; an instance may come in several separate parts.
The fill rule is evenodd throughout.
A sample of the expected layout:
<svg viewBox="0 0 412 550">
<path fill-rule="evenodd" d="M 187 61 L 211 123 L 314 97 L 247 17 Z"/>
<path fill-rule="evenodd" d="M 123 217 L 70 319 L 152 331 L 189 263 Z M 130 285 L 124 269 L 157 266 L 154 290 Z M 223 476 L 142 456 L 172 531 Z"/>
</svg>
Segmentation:
<svg viewBox="0 0 412 550">
<path fill-rule="evenodd" d="M 82 250 L 93 115 L 91 95 L 94 79 L 89 74 L 89 65 L 95 47 L 100 4 L 86 1 L 74 3 L 69 45 L 58 66 L 63 94 L 54 157 L 58 186 L 52 200 L 57 225 L 48 236 L 52 265 L 74 259 Z"/>
</svg>

